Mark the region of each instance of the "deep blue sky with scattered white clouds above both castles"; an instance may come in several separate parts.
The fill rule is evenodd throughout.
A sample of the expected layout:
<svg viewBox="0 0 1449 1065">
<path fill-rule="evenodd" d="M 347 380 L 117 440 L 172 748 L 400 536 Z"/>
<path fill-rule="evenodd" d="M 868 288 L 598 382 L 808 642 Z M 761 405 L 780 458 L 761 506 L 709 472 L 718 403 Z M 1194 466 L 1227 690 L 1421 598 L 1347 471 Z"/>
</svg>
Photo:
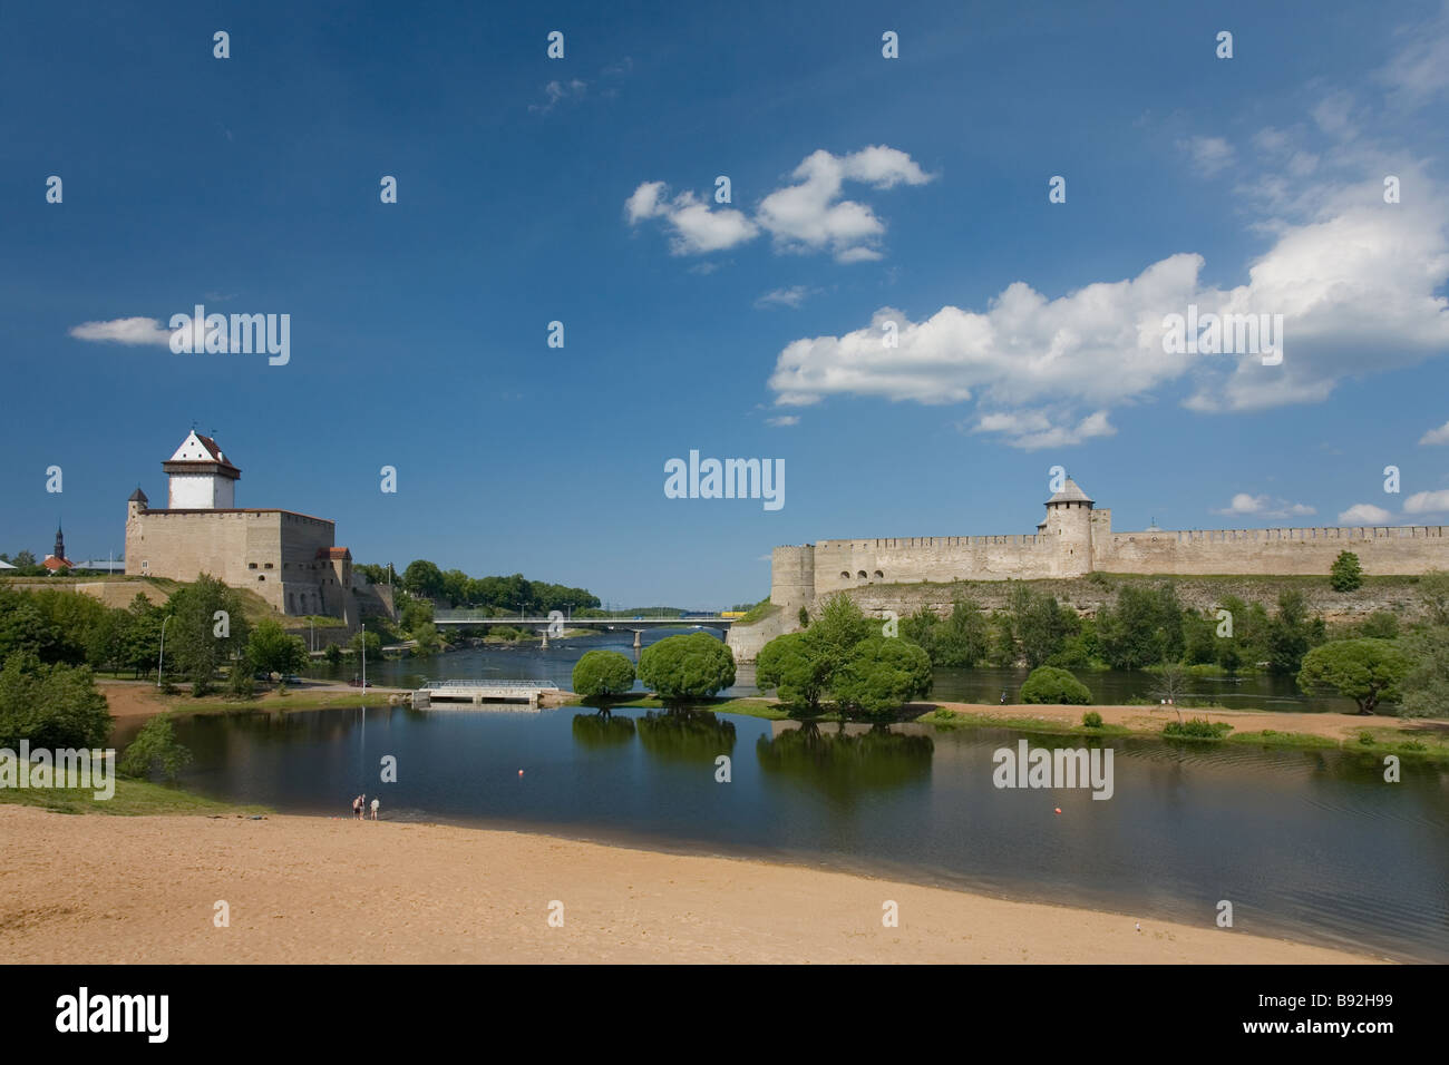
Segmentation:
<svg viewBox="0 0 1449 1065">
<path fill-rule="evenodd" d="M 629 604 L 1032 532 L 1058 464 L 1119 529 L 1449 523 L 1443 6 L 778 7 L 7 12 L 0 549 L 119 554 L 193 420 L 359 561 Z M 174 355 L 197 303 L 290 362 Z M 1165 355 L 1188 303 L 1282 365 Z M 785 506 L 667 498 L 691 449 Z"/>
</svg>

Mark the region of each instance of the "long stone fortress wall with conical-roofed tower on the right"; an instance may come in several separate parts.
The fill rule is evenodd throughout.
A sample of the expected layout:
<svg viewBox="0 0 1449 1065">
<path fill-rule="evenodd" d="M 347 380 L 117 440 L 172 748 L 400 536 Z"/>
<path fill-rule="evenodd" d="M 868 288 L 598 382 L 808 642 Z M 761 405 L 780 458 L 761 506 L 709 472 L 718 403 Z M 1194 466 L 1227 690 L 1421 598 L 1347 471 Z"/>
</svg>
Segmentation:
<svg viewBox="0 0 1449 1065">
<path fill-rule="evenodd" d="M 769 600 L 790 617 L 869 584 L 1148 575 L 1326 575 L 1340 551 L 1366 574 L 1449 569 L 1449 526 L 1113 532 L 1111 510 L 1066 478 L 1035 535 L 820 540 L 775 548 Z"/>
</svg>

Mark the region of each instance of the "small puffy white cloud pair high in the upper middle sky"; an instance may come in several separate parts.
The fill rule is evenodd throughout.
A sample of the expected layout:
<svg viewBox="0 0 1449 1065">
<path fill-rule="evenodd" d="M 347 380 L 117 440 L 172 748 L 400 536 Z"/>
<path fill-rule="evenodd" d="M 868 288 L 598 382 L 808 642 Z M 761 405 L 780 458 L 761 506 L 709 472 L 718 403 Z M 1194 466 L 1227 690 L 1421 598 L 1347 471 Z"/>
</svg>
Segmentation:
<svg viewBox="0 0 1449 1065">
<path fill-rule="evenodd" d="M 671 252 L 698 255 L 769 233 L 777 252 L 829 251 L 838 262 L 881 258 L 885 223 L 855 200 L 842 199 L 846 181 L 885 190 L 932 180 L 906 152 L 885 145 L 849 155 L 811 152 L 791 174 L 794 184 L 765 196 L 753 217 L 733 207 L 716 207 L 693 191 L 671 197 L 662 181 L 645 181 L 625 201 L 629 225 L 661 219 L 672 229 Z"/>
</svg>

